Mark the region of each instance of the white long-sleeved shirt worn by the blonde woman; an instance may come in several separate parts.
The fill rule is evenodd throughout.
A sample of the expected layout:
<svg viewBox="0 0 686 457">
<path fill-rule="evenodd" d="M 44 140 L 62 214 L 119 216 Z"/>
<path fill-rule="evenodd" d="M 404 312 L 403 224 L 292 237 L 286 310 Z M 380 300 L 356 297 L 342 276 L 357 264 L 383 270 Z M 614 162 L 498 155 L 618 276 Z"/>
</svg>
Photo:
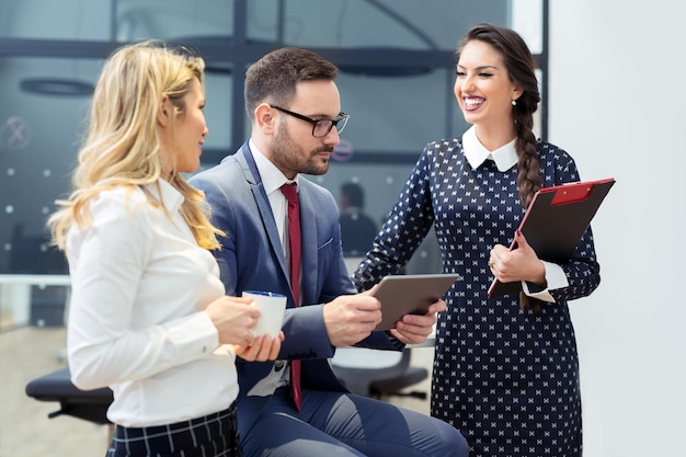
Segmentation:
<svg viewBox="0 0 686 457">
<path fill-rule="evenodd" d="M 232 346 L 219 346 L 201 312 L 225 294 L 219 269 L 183 220 L 183 196 L 159 185 L 161 195 L 157 185 L 101 193 L 92 226 L 67 240 L 71 378 L 81 389 L 110 386 L 107 418 L 124 426 L 203 416 L 238 396 Z"/>
</svg>

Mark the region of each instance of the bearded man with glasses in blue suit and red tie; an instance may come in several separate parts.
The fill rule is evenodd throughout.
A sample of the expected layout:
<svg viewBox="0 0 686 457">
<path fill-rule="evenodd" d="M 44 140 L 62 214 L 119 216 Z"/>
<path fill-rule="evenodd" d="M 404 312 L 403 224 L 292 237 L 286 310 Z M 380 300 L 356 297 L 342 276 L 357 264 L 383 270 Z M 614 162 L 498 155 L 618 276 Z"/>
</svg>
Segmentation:
<svg viewBox="0 0 686 457">
<path fill-rule="evenodd" d="M 336 75 L 333 64 L 305 49 L 282 48 L 261 58 L 245 73 L 250 139 L 191 179 L 205 192 L 214 224 L 226 232 L 216 255 L 227 294 L 259 289 L 288 296 L 278 361 L 238 361 L 243 453 L 466 456 L 466 442 L 455 429 L 352 395 L 331 370 L 335 347 L 398 351 L 425 341 L 435 313 L 446 307 L 438 300 L 425 316 L 405 316 L 388 332 L 373 331 L 380 305 L 353 287 L 336 201 L 300 175 L 329 170 L 347 124 Z M 291 213 L 298 207 L 299 218 Z M 298 222 L 299 232 L 293 231 Z"/>
</svg>

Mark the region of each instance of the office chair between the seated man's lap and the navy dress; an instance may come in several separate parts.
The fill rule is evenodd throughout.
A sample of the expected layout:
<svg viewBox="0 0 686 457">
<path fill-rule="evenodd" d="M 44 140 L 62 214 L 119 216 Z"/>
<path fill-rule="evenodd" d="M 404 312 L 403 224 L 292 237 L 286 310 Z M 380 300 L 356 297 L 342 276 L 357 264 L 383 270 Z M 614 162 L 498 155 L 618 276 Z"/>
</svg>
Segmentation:
<svg viewBox="0 0 686 457">
<path fill-rule="evenodd" d="M 426 399 L 424 391 L 403 391 L 428 377 L 426 368 L 410 366 L 411 351 L 340 347 L 331 361 L 331 368 L 353 393 L 377 399 L 389 396 Z"/>
</svg>

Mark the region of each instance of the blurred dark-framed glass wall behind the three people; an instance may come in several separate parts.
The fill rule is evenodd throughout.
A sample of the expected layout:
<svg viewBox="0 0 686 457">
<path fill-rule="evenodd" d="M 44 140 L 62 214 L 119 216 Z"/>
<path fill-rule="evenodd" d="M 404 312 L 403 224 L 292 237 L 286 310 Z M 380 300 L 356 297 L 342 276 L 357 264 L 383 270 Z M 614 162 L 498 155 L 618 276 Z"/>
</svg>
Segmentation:
<svg viewBox="0 0 686 457">
<path fill-rule="evenodd" d="M 475 23 L 519 30 L 545 91 L 542 0 L 0 0 L 0 275 L 66 274 L 45 218 L 69 190 L 102 60 L 130 41 L 184 44 L 207 61 L 203 168 L 247 139 L 242 76 L 274 48 L 307 47 L 341 68 L 351 122 L 324 176 L 366 191 L 381 220 L 424 145 L 466 128 L 453 95 L 454 52 Z M 544 94 L 545 95 L 545 94 Z M 537 129 L 545 135 L 545 110 Z M 424 258 L 430 251 L 424 252 Z M 436 259 L 432 267 L 436 265 Z"/>
</svg>

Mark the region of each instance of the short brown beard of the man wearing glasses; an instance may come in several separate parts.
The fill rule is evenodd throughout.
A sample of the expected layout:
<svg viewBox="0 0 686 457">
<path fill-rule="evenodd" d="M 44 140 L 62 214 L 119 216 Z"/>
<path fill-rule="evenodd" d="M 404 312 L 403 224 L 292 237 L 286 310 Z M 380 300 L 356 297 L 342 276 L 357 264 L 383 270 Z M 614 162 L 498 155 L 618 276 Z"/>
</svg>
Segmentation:
<svg viewBox="0 0 686 457">
<path fill-rule="evenodd" d="M 329 171 L 329 159 L 322 159 L 321 152 L 333 152 L 333 147 L 321 146 L 306 151 L 290 138 L 285 124 L 279 126 L 278 133 L 272 141 L 272 161 L 286 175 L 298 173 L 320 175 Z"/>
</svg>

